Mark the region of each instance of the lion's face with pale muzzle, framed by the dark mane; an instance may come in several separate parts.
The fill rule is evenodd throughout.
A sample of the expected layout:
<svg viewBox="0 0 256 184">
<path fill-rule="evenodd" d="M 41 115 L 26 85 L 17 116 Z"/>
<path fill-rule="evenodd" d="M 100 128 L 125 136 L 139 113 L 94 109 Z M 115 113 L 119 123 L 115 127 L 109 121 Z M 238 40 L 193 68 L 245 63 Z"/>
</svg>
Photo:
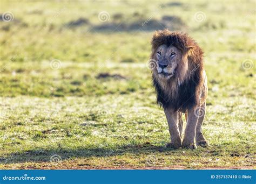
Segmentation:
<svg viewBox="0 0 256 184">
<path fill-rule="evenodd" d="M 156 71 L 161 79 L 175 77 L 177 66 L 181 62 L 181 51 L 174 46 L 161 45 L 156 49 L 154 58 L 157 61 Z"/>
</svg>

